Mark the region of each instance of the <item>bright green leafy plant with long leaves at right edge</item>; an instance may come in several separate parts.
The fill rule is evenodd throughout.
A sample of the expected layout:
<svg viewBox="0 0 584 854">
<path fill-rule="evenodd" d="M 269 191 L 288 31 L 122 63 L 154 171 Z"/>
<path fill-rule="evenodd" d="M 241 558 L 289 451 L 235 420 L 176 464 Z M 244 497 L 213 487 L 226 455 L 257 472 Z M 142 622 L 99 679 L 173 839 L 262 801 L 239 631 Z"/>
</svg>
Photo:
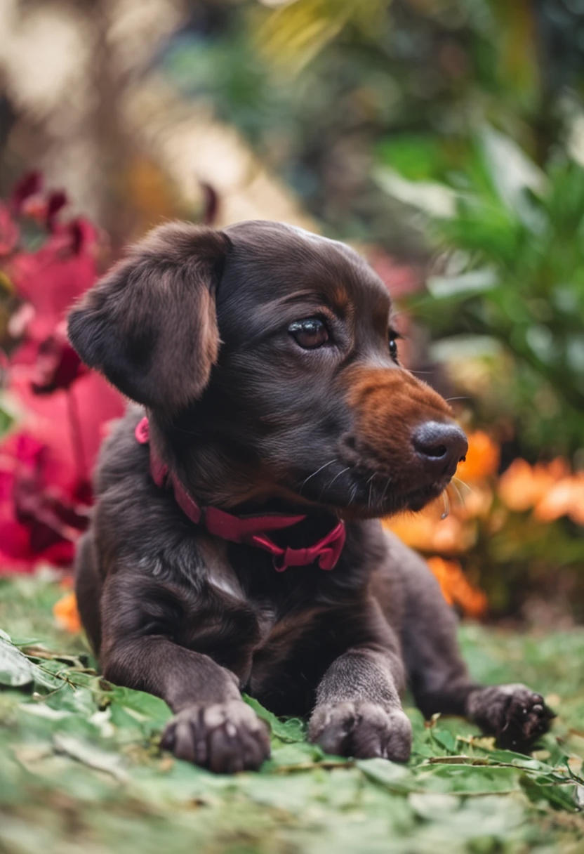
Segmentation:
<svg viewBox="0 0 584 854">
<path fill-rule="evenodd" d="M 573 452 L 584 435 L 584 169 L 558 155 L 540 172 L 489 127 L 464 167 L 439 175 L 437 157 L 424 178 L 441 179 L 433 188 L 451 211 L 430 213 L 428 231 L 454 254 L 412 310 L 439 341 L 468 348 L 469 336 L 480 336 L 484 348 L 491 339 L 490 353 L 500 354 L 491 366 L 503 402 L 496 414 L 514 418 L 531 453 Z M 377 176 L 396 191 L 387 167 Z M 406 177 L 396 185 L 401 198 L 423 207 L 420 185 Z"/>
</svg>

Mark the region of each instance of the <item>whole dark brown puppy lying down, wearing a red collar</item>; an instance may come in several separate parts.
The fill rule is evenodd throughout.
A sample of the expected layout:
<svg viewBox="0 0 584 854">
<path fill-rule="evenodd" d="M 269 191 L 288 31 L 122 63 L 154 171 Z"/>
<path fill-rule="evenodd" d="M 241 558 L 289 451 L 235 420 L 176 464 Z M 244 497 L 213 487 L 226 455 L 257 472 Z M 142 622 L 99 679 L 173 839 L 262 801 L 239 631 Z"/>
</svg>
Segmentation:
<svg viewBox="0 0 584 854">
<path fill-rule="evenodd" d="M 312 712 L 311 739 L 356 757 L 409 756 L 407 680 L 424 715 L 466 715 L 505 746 L 546 731 L 529 688 L 470 681 L 434 578 L 375 521 L 440 495 L 467 446 L 400 366 L 388 292 L 358 254 L 277 223 L 165 225 L 69 335 L 149 416 L 149 444 L 131 407 L 103 447 L 79 610 L 104 675 L 176 713 L 178 757 L 260 765 L 242 690 Z"/>
</svg>

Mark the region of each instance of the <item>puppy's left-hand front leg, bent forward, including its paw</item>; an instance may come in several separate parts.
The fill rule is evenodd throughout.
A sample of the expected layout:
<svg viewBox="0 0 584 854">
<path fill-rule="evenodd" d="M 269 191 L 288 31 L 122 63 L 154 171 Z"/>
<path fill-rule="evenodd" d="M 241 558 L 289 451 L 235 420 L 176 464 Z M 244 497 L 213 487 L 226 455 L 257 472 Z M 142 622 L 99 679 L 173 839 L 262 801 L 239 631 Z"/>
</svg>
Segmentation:
<svg viewBox="0 0 584 854">
<path fill-rule="evenodd" d="M 144 583 L 143 576 L 120 571 L 108 577 L 102 598 L 103 674 L 166 700 L 176 717 L 161 744 L 179 759 L 224 774 L 257 769 L 270 754 L 266 725 L 243 702 L 231 670 L 171 640 L 179 628 L 179 597 L 178 590 Z"/>
</svg>

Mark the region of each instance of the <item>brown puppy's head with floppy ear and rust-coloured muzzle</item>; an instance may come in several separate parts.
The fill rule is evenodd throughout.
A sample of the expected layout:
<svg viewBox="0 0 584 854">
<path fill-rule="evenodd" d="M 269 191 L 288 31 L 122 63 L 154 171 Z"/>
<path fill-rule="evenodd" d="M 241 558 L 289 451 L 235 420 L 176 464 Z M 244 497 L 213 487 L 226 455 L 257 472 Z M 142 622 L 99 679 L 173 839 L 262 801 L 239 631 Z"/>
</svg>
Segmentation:
<svg viewBox="0 0 584 854">
<path fill-rule="evenodd" d="M 74 307 L 69 336 L 223 506 L 418 510 L 466 453 L 446 401 L 400 366 L 383 282 L 288 225 L 162 226 Z"/>
</svg>

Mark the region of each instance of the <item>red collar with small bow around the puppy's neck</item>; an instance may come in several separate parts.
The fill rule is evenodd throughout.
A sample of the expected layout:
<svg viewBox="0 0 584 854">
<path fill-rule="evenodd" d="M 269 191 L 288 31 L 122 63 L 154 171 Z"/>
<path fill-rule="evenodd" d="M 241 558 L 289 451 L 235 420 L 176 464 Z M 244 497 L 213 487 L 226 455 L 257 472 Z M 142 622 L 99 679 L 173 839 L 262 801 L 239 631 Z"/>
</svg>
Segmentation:
<svg viewBox="0 0 584 854">
<path fill-rule="evenodd" d="M 149 443 L 148 418 L 137 425 L 136 438 L 141 445 Z M 242 542 L 270 552 L 274 567 L 283 572 L 288 566 L 308 566 L 318 560 L 321 570 L 332 570 L 341 557 L 345 544 L 345 524 L 339 522 L 322 540 L 307 548 L 281 548 L 267 536 L 266 531 L 291 528 L 292 525 L 306 519 L 306 516 L 233 516 L 219 507 L 201 507 L 180 483 L 173 471 L 156 455 L 150 445 L 150 473 L 159 487 L 170 485 L 174 498 L 186 516 L 195 524 L 204 524 L 209 534 L 223 540 Z"/>
</svg>

